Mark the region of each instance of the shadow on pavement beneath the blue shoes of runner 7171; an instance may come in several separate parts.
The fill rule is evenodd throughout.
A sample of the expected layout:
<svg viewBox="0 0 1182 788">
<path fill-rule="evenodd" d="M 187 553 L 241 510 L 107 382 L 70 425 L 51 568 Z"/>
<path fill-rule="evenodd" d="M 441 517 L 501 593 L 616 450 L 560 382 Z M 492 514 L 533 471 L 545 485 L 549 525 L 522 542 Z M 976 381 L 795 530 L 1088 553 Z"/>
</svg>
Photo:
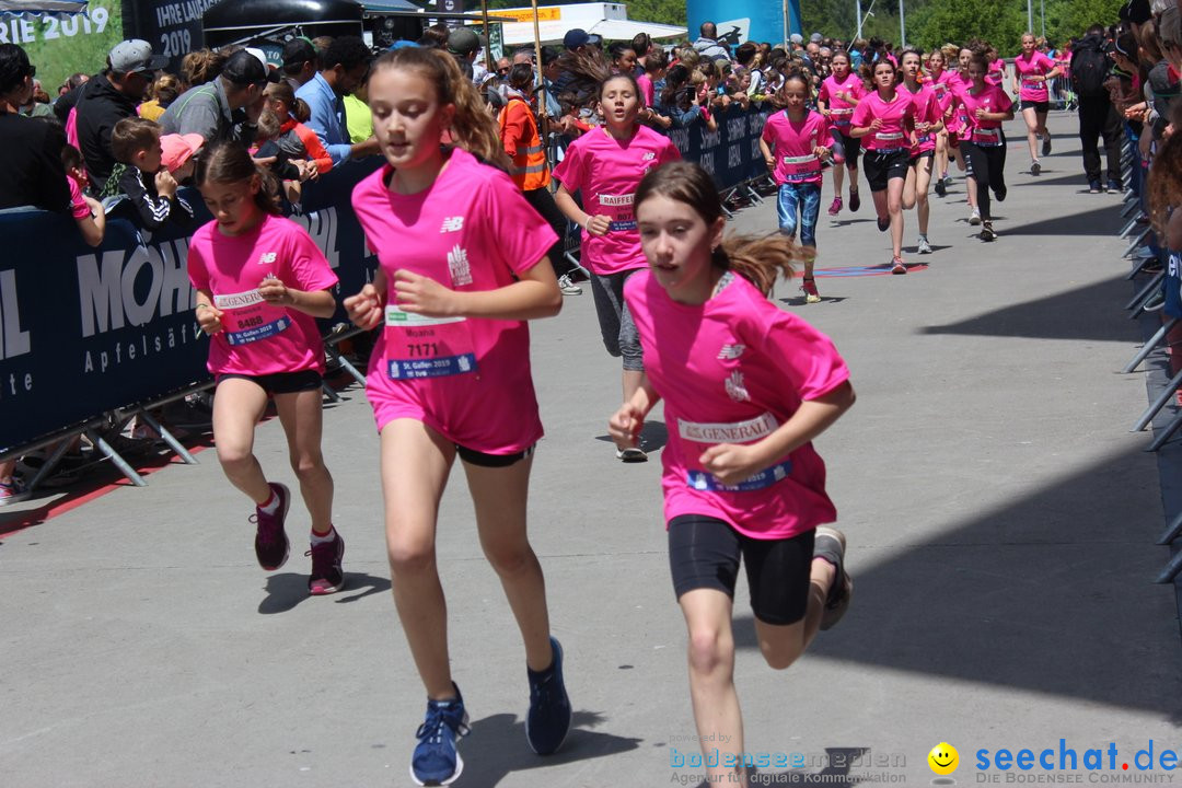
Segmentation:
<svg viewBox="0 0 1182 788">
<path fill-rule="evenodd" d="M 476 771 L 465 770 L 459 784 L 465 788 L 493 788 L 511 774 L 561 763 L 610 757 L 635 750 L 643 740 L 602 734 L 598 728 L 608 717 L 597 711 L 576 711 L 566 743 L 554 755 L 534 755 L 525 736 L 525 722 L 517 715 L 495 714 L 472 723 L 472 736 L 462 747 L 465 760 L 479 763 Z"/>
</svg>

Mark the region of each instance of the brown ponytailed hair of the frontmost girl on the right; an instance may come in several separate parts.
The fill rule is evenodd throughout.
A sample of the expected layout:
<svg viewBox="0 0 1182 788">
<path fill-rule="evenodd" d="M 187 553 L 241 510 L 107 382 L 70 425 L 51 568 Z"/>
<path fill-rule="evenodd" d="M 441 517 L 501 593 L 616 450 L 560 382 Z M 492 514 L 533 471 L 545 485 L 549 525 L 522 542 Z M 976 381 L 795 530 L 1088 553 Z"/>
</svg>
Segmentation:
<svg viewBox="0 0 1182 788">
<path fill-rule="evenodd" d="M 722 200 L 714 178 L 693 162 L 670 162 L 645 175 L 636 189 L 636 207 L 654 195 L 686 203 L 707 227 L 722 216 Z M 772 293 L 781 275 L 791 279 L 793 261 L 804 259 L 801 248 L 781 233 L 760 237 L 732 234 L 712 253 L 715 266 L 735 272 L 765 295 Z"/>
</svg>

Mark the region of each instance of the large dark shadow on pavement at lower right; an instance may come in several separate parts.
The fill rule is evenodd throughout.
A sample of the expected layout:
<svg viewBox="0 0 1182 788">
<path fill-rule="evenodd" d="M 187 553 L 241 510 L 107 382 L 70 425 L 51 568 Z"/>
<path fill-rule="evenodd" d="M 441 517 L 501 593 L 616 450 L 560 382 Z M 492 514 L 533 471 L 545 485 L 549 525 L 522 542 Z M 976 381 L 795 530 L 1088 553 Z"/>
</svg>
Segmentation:
<svg viewBox="0 0 1182 788">
<path fill-rule="evenodd" d="M 1098 460 L 991 512 L 973 512 L 976 495 L 966 489 L 966 519 L 939 540 L 871 566 L 850 551 L 850 611 L 808 653 L 1144 709 L 1180 724 L 1182 658 L 1161 637 L 1177 627 L 1174 593 L 1152 584 L 1169 558 L 1154 545 L 1161 512 L 1145 507 L 1155 489 L 1156 468 L 1141 451 Z M 749 611 L 749 600 L 736 599 L 736 611 Z M 749 612 L 735 617 L 734 634 L 738 647 L 758 651 Z M 745 689 L 754 688 L 740 686 L 740 697 Z"/>
</svg>

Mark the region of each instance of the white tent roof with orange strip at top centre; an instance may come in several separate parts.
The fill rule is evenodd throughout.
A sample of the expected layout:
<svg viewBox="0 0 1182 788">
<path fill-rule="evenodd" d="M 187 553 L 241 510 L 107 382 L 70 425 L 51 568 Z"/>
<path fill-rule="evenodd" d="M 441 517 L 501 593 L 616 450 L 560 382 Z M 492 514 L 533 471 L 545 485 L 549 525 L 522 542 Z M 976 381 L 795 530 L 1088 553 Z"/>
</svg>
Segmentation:
<svg viewBox="0 0 1182 788">
<path fill-rule="evenodd" d="M 533 8 L 498 8 L 493 13 L 517 20 L 505 22 L 506 46 L 533 44 Z M 684 27 L 629 19 L 626 6 L 619 2 L 538 7 L 538 33 L 543 44 L 559 44 L 566 31 L 576 27 L 610 40 L 629 40 L 637 33 L 648 33 L 655 39 L 686 37 Z"/>
</svg>

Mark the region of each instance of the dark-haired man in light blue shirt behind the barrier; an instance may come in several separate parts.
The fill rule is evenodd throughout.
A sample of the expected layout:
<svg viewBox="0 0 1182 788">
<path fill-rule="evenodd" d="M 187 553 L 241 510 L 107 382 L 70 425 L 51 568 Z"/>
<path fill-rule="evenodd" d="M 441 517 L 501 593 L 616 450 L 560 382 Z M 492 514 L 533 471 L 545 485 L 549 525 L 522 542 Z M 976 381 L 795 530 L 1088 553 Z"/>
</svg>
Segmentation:
<svg viewBox="0 0 1182 788">
<path fill-rule="evenodd" d="M 320 138 L 333 165 L 381 152 L 376 137 L 356 145 L 350 144 L 349 126 L 345 123 L 344 97 L 365 80 L 372 59 L 374 56 L 361 38 L 335 38 L 320 59 L 319 73 L 296 91 L 296 97 L 304 99 L 312 111 L 305 125 Z"/>
</svg>

